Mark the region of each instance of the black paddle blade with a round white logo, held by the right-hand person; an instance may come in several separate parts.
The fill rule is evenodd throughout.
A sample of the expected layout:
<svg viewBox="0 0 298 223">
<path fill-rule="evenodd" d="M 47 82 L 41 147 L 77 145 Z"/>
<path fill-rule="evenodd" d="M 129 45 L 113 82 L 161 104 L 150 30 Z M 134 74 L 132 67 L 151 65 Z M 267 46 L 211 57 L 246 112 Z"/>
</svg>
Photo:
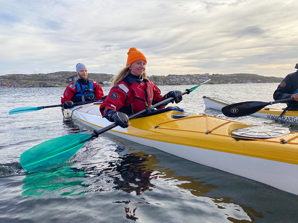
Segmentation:
<svg viewBox="0 0 298 223">
<path fill-rule="evenodd" d="M 227 117 L 243 117 L 254 114 L 267 105 L 270 105 L 270 102 L 246 101 L 225 106 L 221 109 L 221 112 Z"/>
</svg>

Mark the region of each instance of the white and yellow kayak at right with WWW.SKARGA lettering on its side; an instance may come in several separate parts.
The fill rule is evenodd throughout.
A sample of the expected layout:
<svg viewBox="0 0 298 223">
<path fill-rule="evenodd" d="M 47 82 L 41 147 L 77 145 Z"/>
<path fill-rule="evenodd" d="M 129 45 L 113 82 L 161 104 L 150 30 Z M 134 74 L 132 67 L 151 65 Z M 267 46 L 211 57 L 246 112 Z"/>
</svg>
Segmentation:
<svg viewBox="0 0 298 223">
<path fill-rule="evenodd" d="M 212 108 L 218 111 L 221 111 L 224 106 L 228 106 L 234 103 L 220 98 L 211 98 L 206 96 L 204 96 L 203 98 L 206 108 Z M 282 109 L 264 108 L 251 115 L 277 120 L 282 112 Z M 298 125 L 298 111 L 286 111 L 280 118 L 278 118 L 278 120 Z"/>
</svg>

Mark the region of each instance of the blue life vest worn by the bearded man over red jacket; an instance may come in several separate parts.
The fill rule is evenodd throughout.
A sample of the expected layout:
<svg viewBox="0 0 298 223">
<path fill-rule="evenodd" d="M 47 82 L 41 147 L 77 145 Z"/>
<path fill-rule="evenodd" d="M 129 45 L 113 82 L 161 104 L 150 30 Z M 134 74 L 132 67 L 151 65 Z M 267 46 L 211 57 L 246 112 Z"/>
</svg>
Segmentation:
<svg viewBox="0 0 298 223">
<path fill-rule="evenodd" d="M 93 82 L 92 81 L 89 81 L 88 85 L 86 85 L 86 86 L 83 84 L 80 84 L 76 81 L 75 86 L 77 87 L 77 92 L 72 97 L 72 101 L 74 103 L 95 100 L 96 96 L 93 91 Z"/>
</svg>

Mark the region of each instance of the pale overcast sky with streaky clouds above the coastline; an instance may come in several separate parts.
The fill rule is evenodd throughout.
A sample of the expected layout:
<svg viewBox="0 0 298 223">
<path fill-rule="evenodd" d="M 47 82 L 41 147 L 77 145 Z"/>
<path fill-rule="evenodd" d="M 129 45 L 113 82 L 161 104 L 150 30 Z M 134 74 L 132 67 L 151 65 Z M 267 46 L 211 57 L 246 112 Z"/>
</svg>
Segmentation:
<svg viewBox="0 0 298 223">
<path fill-rule="evenodd" d="M 129 48 L 147 75 L 254 73 L 298 63 L 298 1 L 0 0 L 0 75 L 117 74 Z"/>
</svg>

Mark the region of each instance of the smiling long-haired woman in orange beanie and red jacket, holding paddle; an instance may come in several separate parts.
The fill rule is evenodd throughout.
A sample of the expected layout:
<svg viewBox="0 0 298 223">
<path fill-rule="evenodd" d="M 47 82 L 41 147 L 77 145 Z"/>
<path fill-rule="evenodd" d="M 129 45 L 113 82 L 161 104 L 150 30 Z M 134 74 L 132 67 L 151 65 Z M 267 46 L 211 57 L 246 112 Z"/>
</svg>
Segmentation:
<svg viewBox="0 0 298 223">
<path fill-rule="evenodd" d="M 100 105 L 103 117 L 122 128 L 128 127 L 128 115 L 140 112 L 170 97 L 174 98 L 175 103 L 182 100 L 181 91 L 170 91 L 162 96 L 159 88 L 147 79 L 145 70 L 147 59 L 141 51 L 130 48 L 127 55 L 126 67 L 114 77 L 114 87 Z M 164 106 L 160 106 L 159 109 Z"/>
</svg>

